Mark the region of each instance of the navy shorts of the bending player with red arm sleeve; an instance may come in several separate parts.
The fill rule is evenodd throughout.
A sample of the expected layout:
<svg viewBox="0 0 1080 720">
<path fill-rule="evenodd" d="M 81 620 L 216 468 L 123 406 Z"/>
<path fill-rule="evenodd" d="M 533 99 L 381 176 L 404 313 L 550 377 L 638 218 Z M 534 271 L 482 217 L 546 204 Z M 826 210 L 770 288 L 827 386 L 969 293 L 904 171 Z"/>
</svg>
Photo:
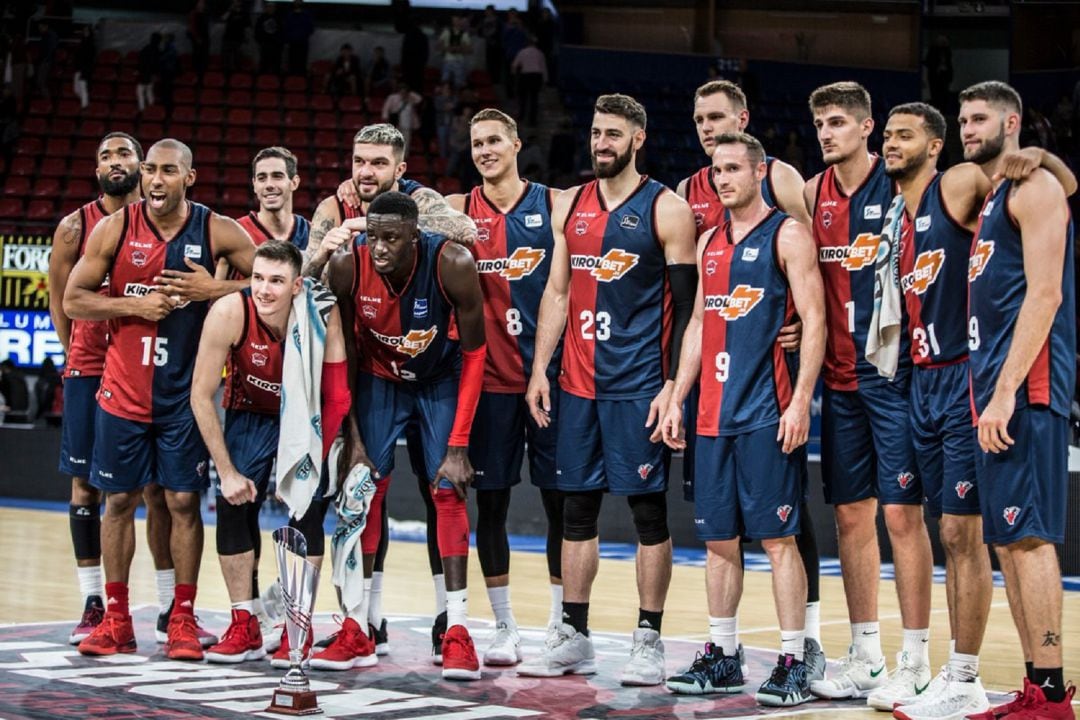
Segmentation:
<svg viewBox="0 0 1080 720">
<path fill-rule="evenodd" d="M 367 457 L 381 477 L 394 468 L 394 446 L 414 418 L 423 448 L 428 477 L 434 478 L 446 456 L 458 407 L 458 379 L 435 382 L 393 382 L 367 372 L 356 376 L 354 395 L 356 424 Z M 451 487 L 445 479 L 442 488 Z"/>
</svg>

